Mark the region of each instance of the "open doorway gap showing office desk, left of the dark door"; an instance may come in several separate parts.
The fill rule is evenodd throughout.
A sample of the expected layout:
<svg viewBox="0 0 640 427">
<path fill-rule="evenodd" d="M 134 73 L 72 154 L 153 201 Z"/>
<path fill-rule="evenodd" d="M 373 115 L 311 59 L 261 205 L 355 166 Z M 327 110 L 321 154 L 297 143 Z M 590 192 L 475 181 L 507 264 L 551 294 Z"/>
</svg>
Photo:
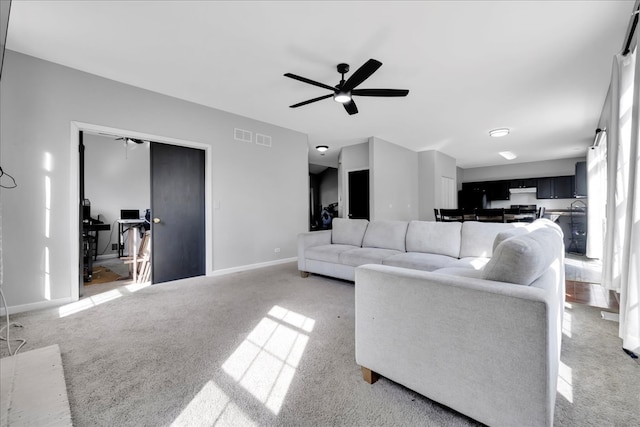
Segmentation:
<svg viewBox="0 0 640 427">
<path fill-rule="evenodd" d="M 122 285 L 129 276 L 136 282 L 146 282 L 150 277 L 150 254 L 143 249 L 148 247 L 150 237 L 150 225 L 145 219 L 151 206 L 150 143 L 89 132 L 81 132 L 79 139 L 85 285 L 81 291 L 106 282 L 118 281 Z M 132 258 L 133 243 L 141 248 L 144 257 Z M 138 275 L 138 271 L 146 274 Z"/>
</svg>

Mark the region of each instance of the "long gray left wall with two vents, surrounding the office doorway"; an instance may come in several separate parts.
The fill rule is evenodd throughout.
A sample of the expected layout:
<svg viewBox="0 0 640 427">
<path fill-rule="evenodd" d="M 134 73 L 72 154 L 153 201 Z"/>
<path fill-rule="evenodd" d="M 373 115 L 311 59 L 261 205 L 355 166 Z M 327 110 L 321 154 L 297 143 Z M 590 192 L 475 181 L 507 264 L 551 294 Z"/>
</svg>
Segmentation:
<svg viewBox="0 0 640 427">
<path fill-rule="evenodd" d="M 307 230 L 305 134 L 11 51 L 0 121 L 0 160 L 18 182 L 0 198 L 3 291 L 11 311 L 60 304 L 77 292 L 78 248 L 70 244 L 78 233 L 73 121 L 209 147 L 212 270 L 293 258 L 296 235 Z M 235 141 L 234 128 L 269 135 L 272 147 Z M 274 206 L 278 215 L 269 215 Z"/>
</svg>

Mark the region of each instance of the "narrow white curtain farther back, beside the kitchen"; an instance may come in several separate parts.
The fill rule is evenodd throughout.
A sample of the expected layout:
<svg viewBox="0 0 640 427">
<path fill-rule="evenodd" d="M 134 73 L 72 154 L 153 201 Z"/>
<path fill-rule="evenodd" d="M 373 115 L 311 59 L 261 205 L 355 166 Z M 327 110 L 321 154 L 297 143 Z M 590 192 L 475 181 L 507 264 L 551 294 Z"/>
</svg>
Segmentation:
<svg viewBox="0 0 640 427">
<path fill-rule="evenodd" d="M 602 259 L 607 204 L 607 134 L 598 134 L 598 144 L 587 150 L 587 258 Z"/>
</svg>

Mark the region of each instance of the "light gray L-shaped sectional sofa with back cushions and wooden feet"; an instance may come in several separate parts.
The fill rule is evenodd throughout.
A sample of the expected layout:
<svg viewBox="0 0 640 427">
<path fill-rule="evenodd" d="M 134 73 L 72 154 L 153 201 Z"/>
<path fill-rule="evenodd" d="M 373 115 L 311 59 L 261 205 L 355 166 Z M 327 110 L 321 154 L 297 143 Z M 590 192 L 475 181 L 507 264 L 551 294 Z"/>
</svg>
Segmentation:
<svg viewBox="0 0 640 427">
<path fill-rule="evenodd" d="M 553 425 L 562 231 L 531 224 L 334 219 L 298 268 L 355 281 L 356 363 L 487 425 Z"/>
</svg>

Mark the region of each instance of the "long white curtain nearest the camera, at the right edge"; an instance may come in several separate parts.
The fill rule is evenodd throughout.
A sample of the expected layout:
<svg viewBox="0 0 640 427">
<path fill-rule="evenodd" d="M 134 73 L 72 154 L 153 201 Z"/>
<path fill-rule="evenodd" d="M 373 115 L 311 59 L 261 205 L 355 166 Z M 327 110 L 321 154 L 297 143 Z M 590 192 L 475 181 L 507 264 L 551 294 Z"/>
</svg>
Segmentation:
<svg viewBox="0 0 640 427">
<path fill-rule="evenodd" d="M 640 352 L 640 64 L 616 55 L 607 135 L 607 206 L 602 284 L 620 292 L 623 347 Z M 638 73 L 635 72 L 638 70 Z"/>
</svg>

